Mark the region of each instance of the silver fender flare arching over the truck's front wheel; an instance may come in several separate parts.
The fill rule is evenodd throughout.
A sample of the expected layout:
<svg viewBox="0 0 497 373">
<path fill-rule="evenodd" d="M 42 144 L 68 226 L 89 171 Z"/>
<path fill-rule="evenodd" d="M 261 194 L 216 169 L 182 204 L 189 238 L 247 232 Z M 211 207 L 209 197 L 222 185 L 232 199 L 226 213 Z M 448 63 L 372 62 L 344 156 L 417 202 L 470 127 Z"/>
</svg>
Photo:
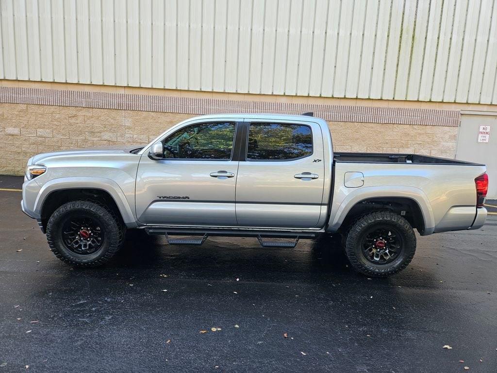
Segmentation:
<svg viewBox="0 0 497 373">
<path fill-rule="evenodd" d="M 48 195 L 53 191 L 63 189 L 100 189 L 106 191 L 114 199 L 126 226 L 130 228 L 137 226 L 136 218 L 121 187 L 115 181 L 107 178 L 77 177 L 52 179 L 41 187 L 33 210 L 41 214 L 41 208 Z"/>
</svg>

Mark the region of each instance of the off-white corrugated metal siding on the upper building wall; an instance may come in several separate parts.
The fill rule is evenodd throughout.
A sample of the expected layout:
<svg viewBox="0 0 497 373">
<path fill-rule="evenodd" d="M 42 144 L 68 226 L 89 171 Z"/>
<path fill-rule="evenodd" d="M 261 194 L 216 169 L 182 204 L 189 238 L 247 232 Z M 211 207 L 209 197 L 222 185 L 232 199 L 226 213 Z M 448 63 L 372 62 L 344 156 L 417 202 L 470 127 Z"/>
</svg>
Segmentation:
<svg viewBox="0 0 497 373">
<path fill-rule="evenodd" d="M 0 78 L 497 103 L 494 0 L 0 0 Z"/>
</svg>

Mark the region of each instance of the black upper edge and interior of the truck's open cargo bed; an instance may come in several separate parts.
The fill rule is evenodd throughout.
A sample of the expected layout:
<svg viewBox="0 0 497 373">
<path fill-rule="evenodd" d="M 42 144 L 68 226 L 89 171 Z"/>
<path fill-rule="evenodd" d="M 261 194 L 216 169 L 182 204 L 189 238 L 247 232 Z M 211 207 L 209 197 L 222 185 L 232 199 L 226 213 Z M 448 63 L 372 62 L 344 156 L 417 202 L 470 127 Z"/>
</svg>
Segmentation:
<svg viewBox="0 0 497 373">
<path fill-rule="evenodd" d="M 431 157 L 417 154 L 395 153 L 333 153 L 333 161 L 349 163 L 414 163 L 443 165 L 478 165 L 456 159 Z M 481 166 L 481 165 L 478 165 Z"/>
</svg>

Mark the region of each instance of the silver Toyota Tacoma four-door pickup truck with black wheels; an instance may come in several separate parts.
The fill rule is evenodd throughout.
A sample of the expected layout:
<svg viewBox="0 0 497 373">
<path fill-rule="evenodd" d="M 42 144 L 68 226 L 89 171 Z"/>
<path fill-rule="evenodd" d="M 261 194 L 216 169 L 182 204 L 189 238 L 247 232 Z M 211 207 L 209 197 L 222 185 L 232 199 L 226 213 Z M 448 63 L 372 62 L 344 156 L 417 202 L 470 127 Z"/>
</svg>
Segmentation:
<svg viewBox="0 0 497 373">
<path fill-rule="evenodd" d="M 249 236 L 281 248 L 339 235 L 355 270 L 385 277 L 413 259 L 414 229 L 484 224 L 485 172 L 415 154 L 333 153 L 326 121 L 312 115 L 219 114 L 145 147 L 34 156 L 21 207 L 76 266 L 107 262 L 129 228 L 188 245 Z"/>
</svg>

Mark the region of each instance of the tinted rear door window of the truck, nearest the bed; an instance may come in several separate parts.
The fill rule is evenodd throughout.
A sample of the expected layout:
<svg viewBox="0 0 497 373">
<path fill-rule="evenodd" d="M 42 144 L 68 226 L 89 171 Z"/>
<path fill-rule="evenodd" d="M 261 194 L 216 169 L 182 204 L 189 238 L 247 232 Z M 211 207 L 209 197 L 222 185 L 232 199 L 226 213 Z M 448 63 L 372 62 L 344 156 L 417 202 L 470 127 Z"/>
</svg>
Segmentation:
<svg viewBox="0 0 497 373">
<path fill-rule="evenodd" d="M 311 127 L 302 124 L 251 123 L 247 159 L 284 160 L 310 156 Z"/>
</svg>

